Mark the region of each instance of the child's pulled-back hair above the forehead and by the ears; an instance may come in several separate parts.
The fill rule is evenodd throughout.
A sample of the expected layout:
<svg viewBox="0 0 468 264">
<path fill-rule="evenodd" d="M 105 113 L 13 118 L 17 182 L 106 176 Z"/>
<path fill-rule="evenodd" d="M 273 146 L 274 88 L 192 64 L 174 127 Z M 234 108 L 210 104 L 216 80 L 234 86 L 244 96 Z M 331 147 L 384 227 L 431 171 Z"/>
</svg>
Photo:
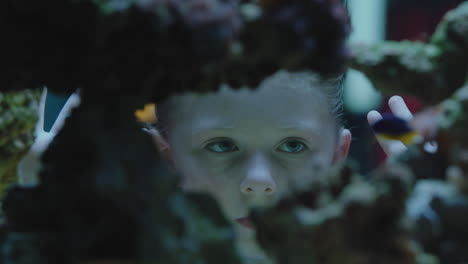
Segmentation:
<svg viewBox="0 0 468 264">
<path fill-rule="evenodd" d="M 259 89 L 281 88 L 290 89 L 291 92 L 307 92 L 311 88 L 319 88 L 327 99 L 329 111 L 336 121 L 337 130 L 343 127 L 343 81 L 344 74 L 339 77 L 323 79 L 319 74 L 302 71 L 288 72 L 281 70 L 263 80 Z M 177 97 L 177 96 L 175 96 Z M 171 112 L 177 109 L 178 101 L 170 97 L 163 102 L 157 103 L 158 122 L 157 130 L 161 135 L 167 137 L 167 127 L 171 121 Z"/>
</svg>

